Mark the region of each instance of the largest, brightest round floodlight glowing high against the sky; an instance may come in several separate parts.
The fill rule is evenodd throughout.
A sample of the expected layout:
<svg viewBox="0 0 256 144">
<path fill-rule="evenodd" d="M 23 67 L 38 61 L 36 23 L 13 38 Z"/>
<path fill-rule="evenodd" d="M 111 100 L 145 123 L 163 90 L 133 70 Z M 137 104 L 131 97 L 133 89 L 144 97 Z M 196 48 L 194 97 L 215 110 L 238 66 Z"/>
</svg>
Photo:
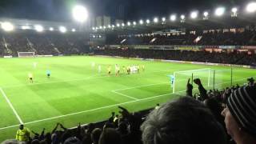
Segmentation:
<svg viewBox="0 0 256 144">
<path fill-rule="evenodd" d="M 73 17 L 78 22 L 85 22 L 88 18 L 88 11 L 84 6 L 74 6 Z"/>
</svg>

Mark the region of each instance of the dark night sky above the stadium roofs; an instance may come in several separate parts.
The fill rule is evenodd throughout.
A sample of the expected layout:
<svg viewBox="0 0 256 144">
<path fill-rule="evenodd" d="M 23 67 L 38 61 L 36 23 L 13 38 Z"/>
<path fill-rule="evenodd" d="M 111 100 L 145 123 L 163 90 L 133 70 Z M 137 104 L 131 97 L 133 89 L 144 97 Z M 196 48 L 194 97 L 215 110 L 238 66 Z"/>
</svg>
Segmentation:
<svg viewBox="0 0 256 144">
<path fill-rule="evenodd" d="M 217 6 L 243 6 L 247 2 L 250 0 L 0 0 L 0 17 L 72 21 L 72 7 L 82 4 L 94 16 L 138 20 L 186 14 L 191 10 L 213 10 Z M 120 6 L 124 10 L 121 15 L 117 13 Z"/>
</svg>

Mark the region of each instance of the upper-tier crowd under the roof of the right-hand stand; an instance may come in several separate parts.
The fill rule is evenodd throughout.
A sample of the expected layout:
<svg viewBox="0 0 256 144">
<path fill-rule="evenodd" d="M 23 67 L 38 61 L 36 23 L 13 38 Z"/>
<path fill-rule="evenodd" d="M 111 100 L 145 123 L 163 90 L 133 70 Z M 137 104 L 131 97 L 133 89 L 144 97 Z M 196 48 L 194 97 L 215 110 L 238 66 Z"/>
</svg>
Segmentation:
<svg viewBox="0 0 256 144">
<path fill-rule="evenodd" d="M 107 38 L 106 43 L 109 45 L 254 46 L 256 45 L 256 31 L 123 35 L 118 38 L 111 36 Z"/>
</svg>

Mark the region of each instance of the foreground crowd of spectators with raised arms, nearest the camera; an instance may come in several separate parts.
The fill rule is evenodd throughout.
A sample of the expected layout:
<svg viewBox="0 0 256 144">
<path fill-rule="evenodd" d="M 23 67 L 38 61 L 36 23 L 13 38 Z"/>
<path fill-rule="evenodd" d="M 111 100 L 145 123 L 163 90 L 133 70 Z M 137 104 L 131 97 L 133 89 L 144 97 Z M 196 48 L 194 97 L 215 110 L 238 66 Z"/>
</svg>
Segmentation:
<svg viewBox="0 0 256 144">
<path fill-rule="evenodd" d="M 194 79 L 199 95 L 192 94 L 190 79 L 186 96 L 157 105 L 150 114 L 130 113 L 122 106 L 103 126 L 89 124 L 67 129 L 58 123 L 49 133 L 38 134 L 23 125 L 16 140 L 3 143 L 31 144 L 255 144 L 256 83 L 207 91 Z M 30 133 L 34 133 L 31 138 Z"/>
</svg>

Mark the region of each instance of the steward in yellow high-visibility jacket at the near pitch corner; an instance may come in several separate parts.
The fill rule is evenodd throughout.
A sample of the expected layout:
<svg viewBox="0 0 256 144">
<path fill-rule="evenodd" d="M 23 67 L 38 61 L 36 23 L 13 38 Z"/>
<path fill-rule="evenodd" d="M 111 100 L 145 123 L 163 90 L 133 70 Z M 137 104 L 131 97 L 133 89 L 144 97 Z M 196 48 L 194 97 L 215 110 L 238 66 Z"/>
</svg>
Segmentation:
<svg viewBox="0 0 256 144">
<path fill-rule="evenodd" d="M 27 142 L 30 140 L 30 130 L 24 125 L 20 125 L 16 133 L 16 139 L 20 142 Z"/>
</svg>

